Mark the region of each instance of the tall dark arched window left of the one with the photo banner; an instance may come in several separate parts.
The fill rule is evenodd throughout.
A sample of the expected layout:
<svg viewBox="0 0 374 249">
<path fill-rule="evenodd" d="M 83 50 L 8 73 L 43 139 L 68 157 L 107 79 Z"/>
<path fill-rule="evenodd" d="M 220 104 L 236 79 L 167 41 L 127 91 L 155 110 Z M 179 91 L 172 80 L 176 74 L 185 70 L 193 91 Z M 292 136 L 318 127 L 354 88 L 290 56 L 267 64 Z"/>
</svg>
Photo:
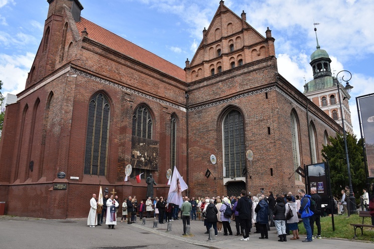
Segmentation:
<svg viewBox="0 0 374 249">
<path fill-rule="evenodd" d="M 106 175 L 110 105 L 102 93 L 95 94 L 88 107 L 84 174 Z"/>
</svg>

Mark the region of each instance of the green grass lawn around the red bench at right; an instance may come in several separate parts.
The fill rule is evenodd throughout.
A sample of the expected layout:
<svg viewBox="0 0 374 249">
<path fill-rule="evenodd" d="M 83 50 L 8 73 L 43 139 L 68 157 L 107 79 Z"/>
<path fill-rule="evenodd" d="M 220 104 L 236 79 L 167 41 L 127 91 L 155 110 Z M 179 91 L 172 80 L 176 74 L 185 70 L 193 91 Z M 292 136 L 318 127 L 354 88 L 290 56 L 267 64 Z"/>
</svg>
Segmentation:
<svg viewBox="0 0 374 249">
<path fill-rule="evenodd" d="M 333 231 L 331 216 L 321 217 L 321 236 L 325 238 L 342 238 L 352 240 L 355 236 L 355 230 L 350 224 L 362 224 L 363 218 L 354 214 L 348 218 L 346 215 L 334 215 L 335 231 Z M 364 224 L 372 225 L 370 217 L 365 217 Z M 306 235 L 303 223 L 299 223 L 299 233 Z M 364 228 L 364 235 L 361 235 L 361 229 L 356 230 L 358 240 L 374 242 L 374 229 Z M 317 235 L 317 226 L 314 224 L 314 236 Z"/>
</svg>

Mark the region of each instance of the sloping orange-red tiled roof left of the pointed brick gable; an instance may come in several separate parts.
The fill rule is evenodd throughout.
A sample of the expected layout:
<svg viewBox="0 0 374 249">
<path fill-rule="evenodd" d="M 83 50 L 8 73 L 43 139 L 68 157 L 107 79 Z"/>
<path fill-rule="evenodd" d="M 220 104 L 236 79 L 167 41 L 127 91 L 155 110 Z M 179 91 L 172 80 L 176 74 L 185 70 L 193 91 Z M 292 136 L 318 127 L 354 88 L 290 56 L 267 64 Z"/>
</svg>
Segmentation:
<svg viewBox="0 0 374 249">
<path fill-rule="evenodd" d="M 83 17 L 80 18 L 80 21 L 76 22 L 76 26 L 78 31 L 83 31 L 84 28 L 86 28 L 88 38 L 100 42 L 105 46 L 113 48 L 118 52 L 126 54 L 173 77 L 186 81 L 186 72 L 184 69 L 122 38 L 121 36 L 114 34 Z"/>
</svg>

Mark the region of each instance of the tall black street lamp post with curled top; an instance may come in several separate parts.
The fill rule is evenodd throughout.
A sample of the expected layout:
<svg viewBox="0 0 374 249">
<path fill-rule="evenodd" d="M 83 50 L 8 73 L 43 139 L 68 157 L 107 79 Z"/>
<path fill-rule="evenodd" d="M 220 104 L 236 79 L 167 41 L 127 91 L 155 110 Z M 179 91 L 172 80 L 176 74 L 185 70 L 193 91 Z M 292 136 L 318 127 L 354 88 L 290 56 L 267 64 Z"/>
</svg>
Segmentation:
<svg viewBox="0 0 374 249">
<path fill-rule="evenodd" d="M 342 101 L 341 101 L 341 97 L 340 97 L 340 85 L 341 84 L 340 84 L 340 82 L 338 80 L 338 75 L 341 72 L 348 72 L 350 74 L 350 78 L 348 80 L 345 80 L 344 76 L 342 77 L 342 80 L 344 82 L 347 82 L 346 86 L 344 87 L 344 89 L 349 93 L 349 92 L 351 92 L 353 86 L 351 86 L 350 83 L 348 82 L 352 78 L 352 73 L 350 71 L 342 70 L 342 71 L 338 72 L 338 74 L 336 75 L 336 78 L 337 78 L 337 81 L 338 81 L 337 86 L 338 86 L 338 95 L 339 95 L 339 104 L 340 104 L 340 115 L 342 117 L 343 140 L 344 140 L 344 147 L 345 147 L 345 152 L 346 152 L 346 161 L 347 161 L 347 169 L 348 169 L 348 180 L 349 180 L 349 187 L 350 187 L 350 196 L 349 196 L 349 202 L 348 202 L 348 216 L 350 216 L 351 215 L 351 211 L 354 211 L 353 207 L 356 206 L 356 200 L 355 200 L 355 197 L 353 196 L 352 179 L 351 179 L 351 168 L 350 168 L 350 160 L 349 160 L 349 156 L 348 156 L 348 147 L 347 147 L 347 133 L 346 133 L 346 129 L 344 128 L 343 108 L 342 108 Z"/>
</svg>

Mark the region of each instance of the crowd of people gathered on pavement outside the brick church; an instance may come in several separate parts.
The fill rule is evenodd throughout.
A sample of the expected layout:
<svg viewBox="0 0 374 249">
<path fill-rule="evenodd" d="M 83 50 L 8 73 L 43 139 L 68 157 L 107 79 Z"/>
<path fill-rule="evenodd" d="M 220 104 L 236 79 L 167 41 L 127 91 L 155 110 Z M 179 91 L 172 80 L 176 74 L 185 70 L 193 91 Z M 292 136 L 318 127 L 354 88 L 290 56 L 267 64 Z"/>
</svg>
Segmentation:
<svg viewBox="0 0 374 249">
<path fill-rule="evenodd" d="M 117 225 L 117 212 L 121 210 L 118 196 L 113 197 L 105 194 L 103 200 L 103 210 L 101 215 L 93 215 L 97 208 L 96 195 L 90 201 L 91 209 L 87 220 L 90 227 L 100 226 L 105 216 L 105 224 L 109 229 L 115 229 Z M 144 212 L 146 214 L 144 215 Z M 242 236 L 240 240 L 248 241 L 252 231 L 259 234 L 259 239 L 268 239 L 270 227 L 275 227 L 279 242 L 287 242 L 287 235 L 292 235 L 290 240 L 299 240 L 298 233 L 299 219 L 307 232 L 303 242 L 312 242 L 314 238 L 314 224 L 317 226 L 316 238 L 321 237 L 320 216 L 322 213 L 321 197 L 317 194 L 316 188 L 311 188 L 311 195 L 305 194 L 304 190 L 299 190 L 298 195 L 293 196 L 291 192 L 282 193 L 276 196 L 272 191 L 269 195 L 257 194 L 251 196 L 242 190 L 240 196 L 217 196 L 217 197 L 184 197 L 181 207 L 168 203 L 163 197 L 156 197 L 154 201 L 148 197 L 146 202 L 138 203 L 136 197 L 129 196 L 122 202 L 121 222 L 132 224 L 136 222 L 137 215 L 142 219 L 146 217 L 158 219 L 160 224 L 174 220 L 183 220 L 184 233 L 190 221 L 199 220 L 202 217 L 203 225 L 206 228 L 205 234 L 212 228 L 214 235 L 222 233 L 223 236 Z M 232 228 L 231 228 L 232 226 Z"/>
</svg>

